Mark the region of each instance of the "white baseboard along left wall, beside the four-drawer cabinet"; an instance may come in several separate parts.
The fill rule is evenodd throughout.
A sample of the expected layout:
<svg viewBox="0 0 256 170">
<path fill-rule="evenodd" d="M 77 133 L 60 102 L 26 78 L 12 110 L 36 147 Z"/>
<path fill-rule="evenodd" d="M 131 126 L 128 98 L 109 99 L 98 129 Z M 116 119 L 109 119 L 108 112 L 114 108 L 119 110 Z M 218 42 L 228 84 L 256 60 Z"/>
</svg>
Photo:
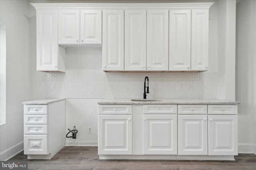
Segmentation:
<svg viewBox="0 0 256 170">
<path fill-rule="evenodd" d="M 20 153 L 24 148 L 23 141 L 4 150 L 0 153 L 0 160 L 6 161 L 15 156 L 16 154 Z"/>
</svg>

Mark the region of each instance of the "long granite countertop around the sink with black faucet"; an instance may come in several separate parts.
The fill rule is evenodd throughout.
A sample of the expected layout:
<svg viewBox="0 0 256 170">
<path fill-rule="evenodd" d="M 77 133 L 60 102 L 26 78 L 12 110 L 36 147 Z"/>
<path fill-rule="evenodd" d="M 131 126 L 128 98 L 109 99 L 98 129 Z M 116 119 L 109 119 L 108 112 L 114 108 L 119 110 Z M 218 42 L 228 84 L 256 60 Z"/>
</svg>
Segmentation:
<svg viewBox="0 0 256 170">
<path fill-rule="evenodd" d="M 238 105 L 240 102 L 223 99 L 159 99 L 161 101 L 131 101 L 131 99 L 102 99 L 99 105 L 142 105 L 142 104 L 197 104 L 197 105 Z"/>
</svg>

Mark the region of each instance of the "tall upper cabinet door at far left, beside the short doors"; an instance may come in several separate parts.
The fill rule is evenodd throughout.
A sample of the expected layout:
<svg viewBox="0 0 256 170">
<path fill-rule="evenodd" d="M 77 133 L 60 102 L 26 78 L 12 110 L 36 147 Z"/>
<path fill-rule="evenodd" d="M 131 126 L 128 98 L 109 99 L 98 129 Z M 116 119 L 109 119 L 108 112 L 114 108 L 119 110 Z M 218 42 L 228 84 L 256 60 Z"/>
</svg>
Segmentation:
<svg viewBox="0 0 256 170">
<path fill-rule="evenodd" d="M 58 71 L 58 10 L 36 10 L 36 69 Z"/>
</svg>

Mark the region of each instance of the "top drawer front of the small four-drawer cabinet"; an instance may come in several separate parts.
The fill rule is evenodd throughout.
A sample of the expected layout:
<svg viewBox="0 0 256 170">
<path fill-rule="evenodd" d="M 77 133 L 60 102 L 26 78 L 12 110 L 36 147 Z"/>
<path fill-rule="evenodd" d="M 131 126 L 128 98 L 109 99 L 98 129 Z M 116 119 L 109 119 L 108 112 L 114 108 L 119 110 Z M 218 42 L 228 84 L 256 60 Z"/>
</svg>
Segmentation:
<svg viewBox="0 0 256 170">
<path fill-rule="evenodd" d="M 47 112 L 47 105 L 24 105 L 24 114 L 30 115 L 46 115 Z"/>
</svg>

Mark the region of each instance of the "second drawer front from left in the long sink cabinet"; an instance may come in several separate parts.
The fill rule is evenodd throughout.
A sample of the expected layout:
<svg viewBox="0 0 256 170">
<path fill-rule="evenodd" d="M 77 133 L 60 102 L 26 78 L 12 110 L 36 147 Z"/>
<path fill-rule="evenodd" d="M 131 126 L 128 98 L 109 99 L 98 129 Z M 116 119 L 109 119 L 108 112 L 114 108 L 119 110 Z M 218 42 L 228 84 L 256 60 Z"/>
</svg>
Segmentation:
<svg viewBox="0 0 256 170">
<path fill-rule="evenodd" d="M 143 105 L 144 114 L 177 114 L 177 105 Z"/>
</svg>

